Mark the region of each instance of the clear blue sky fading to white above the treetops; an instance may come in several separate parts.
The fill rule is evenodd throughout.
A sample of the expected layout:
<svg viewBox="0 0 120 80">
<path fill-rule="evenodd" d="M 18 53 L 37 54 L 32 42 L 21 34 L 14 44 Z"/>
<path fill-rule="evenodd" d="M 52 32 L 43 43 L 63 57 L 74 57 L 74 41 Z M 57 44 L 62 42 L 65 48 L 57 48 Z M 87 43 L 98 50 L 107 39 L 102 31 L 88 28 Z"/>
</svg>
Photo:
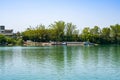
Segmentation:
<svg viewBox="0 0 120 80">
<path fill-rule="evenodd" d="M 120 0 L 0 0 L 0 25 L 14 32 L 61 20 L 79 30 L 120 24 Z"/>
</svg>

